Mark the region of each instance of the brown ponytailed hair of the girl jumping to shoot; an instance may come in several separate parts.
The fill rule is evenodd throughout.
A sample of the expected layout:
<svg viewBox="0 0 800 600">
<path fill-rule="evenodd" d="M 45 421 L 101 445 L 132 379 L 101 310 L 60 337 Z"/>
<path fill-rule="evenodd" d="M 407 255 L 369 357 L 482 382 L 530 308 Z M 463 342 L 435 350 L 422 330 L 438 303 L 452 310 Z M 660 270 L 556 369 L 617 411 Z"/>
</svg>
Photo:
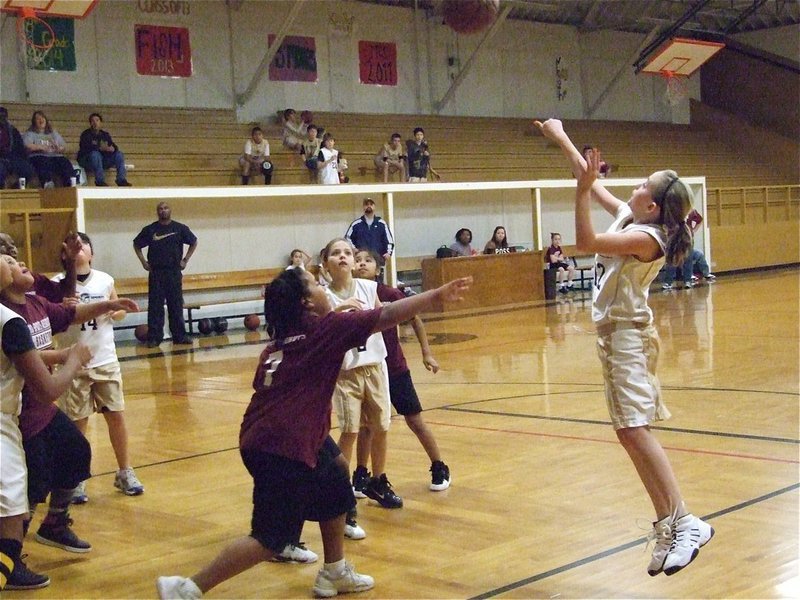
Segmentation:
<svg viewBox="0 0 800 600">
<path fill-rule="evenodd" d="M 667 232 L 667 264 L 678 267 L 692 248 L 692 232 L 686 224 L 692 210 L 692 193 L 675 171 L 661 171 L 659 175 L 651 194 L 661 209 L 658 224 Z"/>
</svg>

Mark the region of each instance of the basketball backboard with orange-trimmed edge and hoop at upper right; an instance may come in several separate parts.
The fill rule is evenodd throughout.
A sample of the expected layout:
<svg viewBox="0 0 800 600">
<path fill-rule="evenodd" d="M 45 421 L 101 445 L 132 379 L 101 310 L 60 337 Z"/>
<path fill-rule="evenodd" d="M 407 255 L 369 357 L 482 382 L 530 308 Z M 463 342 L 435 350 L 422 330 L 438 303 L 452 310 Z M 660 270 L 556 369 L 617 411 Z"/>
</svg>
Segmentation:
<svg viewBox="0 0 800 600">
<path fill-rule="evenodd" d="M 720 42 L 672 38 L 653 53 L 641 72 L 663 77 L 665 98 L 676 106 L 689 95 L 689 77 L 724 47 Z"/>
</svg>

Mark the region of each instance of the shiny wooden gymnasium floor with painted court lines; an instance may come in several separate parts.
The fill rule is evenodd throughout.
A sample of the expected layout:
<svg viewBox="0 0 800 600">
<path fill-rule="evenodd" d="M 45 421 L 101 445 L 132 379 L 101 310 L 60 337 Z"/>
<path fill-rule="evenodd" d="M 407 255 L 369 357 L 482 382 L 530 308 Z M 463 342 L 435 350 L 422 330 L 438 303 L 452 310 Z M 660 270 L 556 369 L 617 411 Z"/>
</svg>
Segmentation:
<svg viewBox="0 0 800 600">
<path fill-rule="evenodd" d="M 414 340 L 404 346 L 453 485 L 428 491 L 427 458 L 395 419 L 388 473 L 405 507 L 359 502 L 368 536 L 345 548 L 376 586 L 358 597 L 800 597 L 798 290 L 800 273 L 786 269 L 653 294 L 673 412 L 658 436 L 689 508 L 717 532 L 672 577 L 645 570 L 653 515 L 608 424 L 589 301 L 428 320 L 442 370 L 424 370 Z M 30 536 L 29 565 L 52 584 L 4 597 L 152 598 L 156 576 L 189 575 L 248 531 L 237 438 L 261 336 L 120 348 L 146 493 L 114 490 L 105 424 L 94 418 L 91 500 L 72 510 L 93 551 Z M 321 554 L 315 524 L 304 540 Z M 208 597 L 308 598 L 318 567 L 264 564 Z"/>
</svg>

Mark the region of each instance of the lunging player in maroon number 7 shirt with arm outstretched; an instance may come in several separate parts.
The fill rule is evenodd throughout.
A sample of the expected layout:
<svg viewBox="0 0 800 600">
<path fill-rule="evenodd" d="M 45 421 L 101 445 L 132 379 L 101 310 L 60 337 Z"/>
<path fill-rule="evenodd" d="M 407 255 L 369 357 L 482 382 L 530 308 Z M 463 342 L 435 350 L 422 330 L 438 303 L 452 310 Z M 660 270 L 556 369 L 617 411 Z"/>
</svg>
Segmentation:
<svg viewBox="0 0 800 600">
<path fill-rule="evenodd" d="M 253 477 L 249 536 L 241 537 L 191 578 L 159 577 L 164 598 L 200 598 L 211 588 L 271 559 L 305 520 L 318 520 L 325 565 L 314 593 L 332 597 L 372 589 L 375 582 L 345 562 L 345 513 L 355 506 L 347 474 L 331 448 L 331 394 L 346 354 L 371 334 L 444 301 L 460 299 L 468 279 L 377 310 L 333 313 L 325 291 L 299 269 L 284 271 L 264 300 L 270 341 L 253 379 L 239 446 Z"/>
</svg>

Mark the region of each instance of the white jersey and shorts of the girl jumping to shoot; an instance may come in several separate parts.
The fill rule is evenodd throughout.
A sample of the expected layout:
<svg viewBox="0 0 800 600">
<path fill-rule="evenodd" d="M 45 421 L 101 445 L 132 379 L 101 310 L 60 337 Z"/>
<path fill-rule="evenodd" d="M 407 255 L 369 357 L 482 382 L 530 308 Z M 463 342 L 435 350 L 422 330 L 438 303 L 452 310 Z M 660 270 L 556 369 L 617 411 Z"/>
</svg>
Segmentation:
<svg viewBox="0 0 800 600">
<path fill-rule="evenodd" d="M 662 256 L 642 262 L 631 255 L 595 256 L 592 320 L 598 328 L 597 351 L 603 365 L 606 403 L 615 429 L 641 427 L 668 419 L 656 377 L 659 339 L 647 305 L 650 284 L 664 265 L 662 227 L 632 223 L 630 207 L 620 207 L 607 233 L 643 231 Z"/>
</svg>

